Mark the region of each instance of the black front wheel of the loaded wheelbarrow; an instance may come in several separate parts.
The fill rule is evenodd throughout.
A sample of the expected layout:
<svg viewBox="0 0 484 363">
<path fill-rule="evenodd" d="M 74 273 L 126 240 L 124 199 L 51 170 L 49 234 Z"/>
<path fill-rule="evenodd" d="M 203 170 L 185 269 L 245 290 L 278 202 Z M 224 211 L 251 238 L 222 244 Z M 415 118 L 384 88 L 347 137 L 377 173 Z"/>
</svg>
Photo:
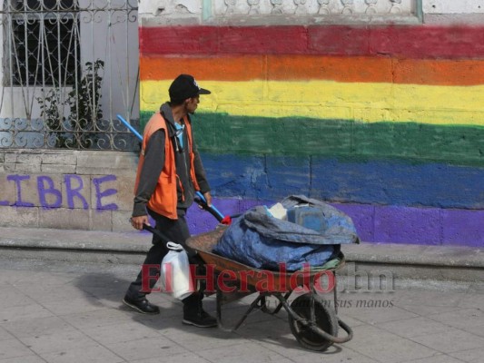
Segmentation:
<svg viewBox="0 0 484 363">
<path fill-rule="evenodd" d="M 291 309 L 302 319 L 308 320 L 311 325 L 336 337 L 338 335 L 338 318 L 334 310 L 327 308 L 324 300 L 318 295 L 312 295 L 312 297 L 314 298 L 314 321 L 311 321 L 311 293 L 294 299 L 291 303 Z M 305 326 L 300 321 L 293 319 L 291 314 L 289 315 L 289 324 L 292 335 L 304 348 L 321 351 L 329 348 L 333 343 L 331 340 L 321 337 L 309 326 Z"/>
</svg>

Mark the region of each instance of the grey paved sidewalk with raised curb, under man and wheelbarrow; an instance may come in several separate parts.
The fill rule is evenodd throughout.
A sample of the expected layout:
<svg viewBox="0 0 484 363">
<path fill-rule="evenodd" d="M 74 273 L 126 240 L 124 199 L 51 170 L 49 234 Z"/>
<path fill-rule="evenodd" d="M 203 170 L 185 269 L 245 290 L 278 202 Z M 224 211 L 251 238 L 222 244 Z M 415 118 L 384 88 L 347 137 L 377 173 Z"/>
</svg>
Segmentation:
<svg viewBox="0 0 484 363">
<path fill-rule="evenodd" d="M 184 326 L 182 304 L 164 293 L 150 297 L 159 316 L 125 308 L 150 244 L 136 231 L 0 228 L 0 363 L 482 362 L 482 250 L 344 246 L 338 317 L 354 338 L 313 352 L 291 335 L 283 309 L 256 311 L 227 333 Z M 321 296 L 334 309 L 332 294 Z M 254 298 L 223 306 L 224 323 L 241 319 Z M 205 308 L 214 313 L 213 296 Z"/>
</svg>

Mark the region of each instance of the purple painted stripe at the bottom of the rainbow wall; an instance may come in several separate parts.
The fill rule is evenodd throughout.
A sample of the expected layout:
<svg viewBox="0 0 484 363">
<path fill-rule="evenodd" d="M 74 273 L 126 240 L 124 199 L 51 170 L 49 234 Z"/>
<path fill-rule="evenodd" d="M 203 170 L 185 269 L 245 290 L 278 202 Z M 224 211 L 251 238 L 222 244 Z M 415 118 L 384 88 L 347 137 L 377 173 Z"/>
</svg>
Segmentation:
<svg viewBox="0 0 484 363">
<path fill-rule="evenodd" d="M 254 205 L 271 206 L 272 201 L 215 199 L 224 214 L 237 214 Z M 404 206 L 372 206 L 331 203 L 353 220 L 361 240 L 373 243 L 410 243 L 484 247 L 484 211 Z M 193 234 L 212 231 L 217 221 L 206 211 L 193 207 L 188 221 Z"/>
</svg>

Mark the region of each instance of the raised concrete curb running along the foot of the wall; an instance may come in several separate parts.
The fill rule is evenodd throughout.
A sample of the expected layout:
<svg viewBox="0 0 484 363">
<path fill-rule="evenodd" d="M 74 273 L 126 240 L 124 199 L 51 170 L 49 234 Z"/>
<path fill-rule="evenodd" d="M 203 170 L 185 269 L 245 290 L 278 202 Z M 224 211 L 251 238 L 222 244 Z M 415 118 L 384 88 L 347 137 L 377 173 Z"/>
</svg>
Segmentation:
<svg viewBox="0 0 484 363">
<path fill-rule="evenodd" d="M 73 231 L 0 227 L 0 249 L 13 258 L 44 260 L 113 260 L 140 263 L 151 247 L 151 233 Z M 484 278 L 484 249 L 460 246 L 361 243 L 342 245 L 347 262 L 355 270 L 374 274 L 390 270 L 395 277 L 419 280 L 464 280 Z M 32 253 L 35 251 L 35 253 Z M 30 253 L 29 253 L 30 252 Z M 74 253 L 73 253 L 74 252 Z M 131 257 L 130 257 L 131 256 Z"/>
</svg>

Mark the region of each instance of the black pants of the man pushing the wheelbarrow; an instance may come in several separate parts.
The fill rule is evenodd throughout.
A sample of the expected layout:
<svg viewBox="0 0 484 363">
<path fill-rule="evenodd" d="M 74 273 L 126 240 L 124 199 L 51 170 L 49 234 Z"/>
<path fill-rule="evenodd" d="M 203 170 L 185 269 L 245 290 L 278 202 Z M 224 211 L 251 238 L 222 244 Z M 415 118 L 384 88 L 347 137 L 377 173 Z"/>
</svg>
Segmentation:
<svg viewBox="0 0 484 363">
<path fill-rule="evenodd" d="M 146 254 L 142 270 L 126 291 L 126 296 L 130 299 L 143 299 L 153 289 L 160 274 L 160 263 L 169 251 L 166 242 L 179 243 L 185 250 L 189 250 L 185 245 L 185 241 L 190 237 L 185 211 L 178 211 L 177 220 L 171 220 L 154 211 L 149 211 L 149 213 L 156 222 L 154 228 L 161 231 L 167 240 L 161 240 L 158 236 L 153 235 L 153 246 Z M 189 261 L 197 265 L 202 262 L 198 256 L 190 256 Z"/>
</svg>

